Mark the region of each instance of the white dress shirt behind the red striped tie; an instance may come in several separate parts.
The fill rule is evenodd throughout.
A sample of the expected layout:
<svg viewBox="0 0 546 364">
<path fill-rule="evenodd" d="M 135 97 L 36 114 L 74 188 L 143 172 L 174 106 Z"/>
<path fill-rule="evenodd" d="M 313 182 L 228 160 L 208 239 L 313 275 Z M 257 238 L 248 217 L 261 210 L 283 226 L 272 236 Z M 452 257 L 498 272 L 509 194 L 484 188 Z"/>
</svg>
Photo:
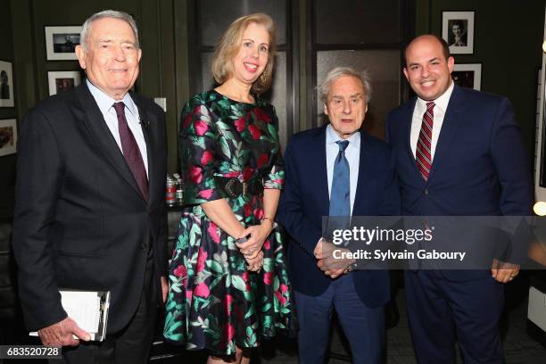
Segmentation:
<svg viewBox="0 0 546 364">
<path fill-rule="evenodd" d="M 436 150 L 438 136 L 440 136 L 440 130 L 442 129 L 443 117 L 445 116 L 448 103 L 450 102 L 451 93 L 453 92 L 453 85 L 454 82 L 451 81 L 450 87 L 448 87 L 443 95 L 434 100 L 433 137 L 430 148 L 431 161 L 434 161 L 434 151 Z M 411 151 L 413 152 L 414 157 L 417 150 L 417 141 L 419 138 L 419 132 L 421 131 L 423 115 L 425 115 L 426 112 L 426 103 L 428 103 L 428 101 L 418 97 L 417 103 L 415 103 L 415 109 L 413 110 L 409 145 L 411 146 Z"/>
</svg>

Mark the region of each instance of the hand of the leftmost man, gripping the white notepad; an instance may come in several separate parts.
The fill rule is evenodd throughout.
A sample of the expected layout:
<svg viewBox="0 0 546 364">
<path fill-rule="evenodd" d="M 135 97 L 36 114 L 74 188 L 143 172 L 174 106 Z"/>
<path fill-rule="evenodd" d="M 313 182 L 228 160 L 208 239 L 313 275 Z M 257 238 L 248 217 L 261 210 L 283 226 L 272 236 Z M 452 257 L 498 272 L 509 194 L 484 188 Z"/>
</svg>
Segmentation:
<svg viewBox="0 0 546 364">
<path fill-rule="evenodd" d="M 83 341 L 91 339 L 91 335 L 79 327 L 72 318 L 64 318 L 56 324 L 39 329 L 37 333 L 45 346 L 78 346 L 79 339 Z"/>
</svg>

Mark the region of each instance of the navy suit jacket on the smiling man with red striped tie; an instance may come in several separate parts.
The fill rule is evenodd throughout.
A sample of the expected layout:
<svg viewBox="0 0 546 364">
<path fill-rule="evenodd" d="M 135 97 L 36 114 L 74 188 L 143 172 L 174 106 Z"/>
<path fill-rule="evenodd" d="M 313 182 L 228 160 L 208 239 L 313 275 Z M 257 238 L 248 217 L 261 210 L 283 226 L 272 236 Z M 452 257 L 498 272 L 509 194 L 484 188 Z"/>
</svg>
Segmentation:
<svg viewBox="0 0 546 364">
<path fill-rule="evenodd" d="M 527 216 L 531 173 L 521 132 L 508 99 L 455 86 L 427 182 L 409 146 L 417 98 L 387 115 L 387 142 L 396 154 L 403 215 Z M 488 271 L 445 271 L 457 280 Z"/>
</svg>

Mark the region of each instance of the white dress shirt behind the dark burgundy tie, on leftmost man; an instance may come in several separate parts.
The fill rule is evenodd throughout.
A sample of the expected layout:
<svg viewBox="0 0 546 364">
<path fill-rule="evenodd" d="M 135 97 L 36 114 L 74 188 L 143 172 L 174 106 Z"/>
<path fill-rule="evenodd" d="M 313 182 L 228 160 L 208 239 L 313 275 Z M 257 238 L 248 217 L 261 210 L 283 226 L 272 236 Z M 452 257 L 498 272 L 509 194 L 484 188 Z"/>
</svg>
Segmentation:
<svg viewBox="0 0 546 364">
<path fill-rule="evenodd" d="M 120 147 L 121 153 L 123 149 L 121 148 L 121 139 L 120 139 L 120 130 L 118 128 L 118 115 L 116 114 L 115 109 L 113 108 L 114 103 L 119 103 L 122 101 L 125 103 L 125 119 L 127 119 L 127 124 L 133 136 L 135 136 L 136 145 L 138 145 L 138 150 L 140 155 L 142 155 L 142 161 L 145 163 L 146 176 L 148 175 L 148 154 L 146 153 L 146 142 L 144 138 L 144 133 L 139 122 L 138 108 L 136 107 L 135 102 L 130 95 L 126 94 L 123 97 L 123 100 L 115 100 L 109 95 L 103 93 L 102 90 L 95 87 L 89 79 L 86 80 L 87 87 L 91 92 L 91 95 L 95 98 L 96 103 L 98 104 L 99 109 L 103 113 L 104 120 L 106 125 L 110 129 L 112 136 L 116 139 L 116 143 Z"/>
</svg>

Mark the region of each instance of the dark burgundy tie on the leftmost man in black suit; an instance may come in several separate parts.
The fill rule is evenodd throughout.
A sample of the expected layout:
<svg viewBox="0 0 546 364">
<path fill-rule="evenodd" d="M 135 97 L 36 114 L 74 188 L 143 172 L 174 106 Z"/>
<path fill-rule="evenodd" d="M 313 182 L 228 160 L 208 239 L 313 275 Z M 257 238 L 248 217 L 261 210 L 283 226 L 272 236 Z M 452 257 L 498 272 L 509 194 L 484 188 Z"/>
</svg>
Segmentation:
<svg viewBox="0 0 546 364">
<path fill-rule="evenodd" d="M 133 172 L 133 176 L 136 179 L 136 184 L 140 188 L 140 192 L 144 196 L 145 200 L 148 200 L 148 178 L 146 176 L 146 170 L 142 154 L 136 144 L 135 136 L 128 128 L 127 119 L 125 119 L 125 103 L 114 103 L 113 108 L 118 115 L 118 128 L 120 130 L 121 150 L 125 161 L 127 161 L 128 167 Z"/>
</svg>

